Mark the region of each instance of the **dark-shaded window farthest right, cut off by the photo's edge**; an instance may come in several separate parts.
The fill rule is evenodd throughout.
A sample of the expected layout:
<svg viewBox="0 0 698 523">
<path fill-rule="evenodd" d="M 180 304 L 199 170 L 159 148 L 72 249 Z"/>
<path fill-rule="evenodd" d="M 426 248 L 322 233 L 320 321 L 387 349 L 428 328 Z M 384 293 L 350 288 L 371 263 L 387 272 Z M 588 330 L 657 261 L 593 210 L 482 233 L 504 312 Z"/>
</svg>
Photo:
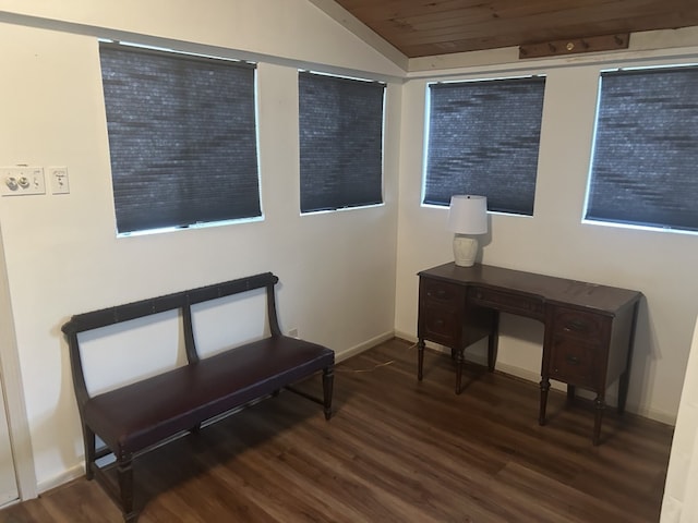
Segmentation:
<svg viewBox="0 0 698 523">
<path fill-rule="evenodd" d="M 585 218 L 698 231 L 698 68 L 602 72 Z"/>
</svg>

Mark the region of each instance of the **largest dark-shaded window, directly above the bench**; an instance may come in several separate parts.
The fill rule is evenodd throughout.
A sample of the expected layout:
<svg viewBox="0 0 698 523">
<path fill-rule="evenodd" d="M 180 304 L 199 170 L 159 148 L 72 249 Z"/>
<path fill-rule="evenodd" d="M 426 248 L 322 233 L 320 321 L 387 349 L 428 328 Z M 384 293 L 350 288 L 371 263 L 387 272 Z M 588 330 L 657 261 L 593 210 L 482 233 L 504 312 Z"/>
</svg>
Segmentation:
<svg viewBox="0 0 698 523">
<path fill-rule="evenodd" d="M 120 234 L 260 217 L 255 66 L 100 44 Z"/>
</svg>

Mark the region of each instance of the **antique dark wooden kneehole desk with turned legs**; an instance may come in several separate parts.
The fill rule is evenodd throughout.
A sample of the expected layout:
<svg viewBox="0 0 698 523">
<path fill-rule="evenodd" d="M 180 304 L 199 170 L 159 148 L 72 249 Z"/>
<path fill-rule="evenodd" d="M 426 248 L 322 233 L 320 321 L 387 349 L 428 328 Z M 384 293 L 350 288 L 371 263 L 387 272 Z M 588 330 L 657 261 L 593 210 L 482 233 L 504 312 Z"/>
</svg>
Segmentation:
<svg viewBox="0 0 698 523">
<path fill-rule="evenodd" d="M 606 387 L 618 384 L 618 412 L 625 410 L 635 336 L 638 291 L 476 264 L 454 263 L 419 272 L 418 379 L 423 376 L 425 340 L 452 349 L 456 393 L 460 393 L 464 351 L 489 337 L 488 366 L 494 370 L 500 312 L 544 324 L 539 423 L 545 424 L 550 380 L 595 392 L 593 445 L 599 445 Z"/>
</svg>

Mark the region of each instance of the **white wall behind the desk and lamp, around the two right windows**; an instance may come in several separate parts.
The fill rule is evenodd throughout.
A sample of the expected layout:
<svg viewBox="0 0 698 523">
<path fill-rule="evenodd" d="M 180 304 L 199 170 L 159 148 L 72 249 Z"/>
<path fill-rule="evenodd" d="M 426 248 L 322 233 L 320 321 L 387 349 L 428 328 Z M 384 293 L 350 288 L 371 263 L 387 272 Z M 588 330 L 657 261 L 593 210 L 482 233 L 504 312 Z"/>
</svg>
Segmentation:
<svg viewBox="0 0 698 523">
<path fill-rule="evenodd" d="M 425 85 L 430 80 L 545 74 L 545 100 L 533 217 L 491 215 L 482 260 L 515 269 L 636 289 L 645 293 L 637 329 L 627 409 L 675 421 L 698 312 L 698 236 L 582 224 L 599 70 L 621 64 L 695 63 L 698 32 L 683 33 L 683 48 L 629 50 L 598 57 L 518 61 L 512 50 L 411 62 L 404 87 L 396 331 L 417 330 L 416 273 L 453 260 L 445 208 L 420 206 Z M 653 35 L 657 40 L 658 35 Z M 676 45 L 667 32 L 667 42 Z M 693 46 L 693 47 L 690 47 Z M 661 46 L 660 46 L 661 47 Z M 676 58 L 671 58 L 674 54 Z M 503 59 L 504 57 L 504 59 Z M 670 57 L 670 58 L 666 58 Z M 470 63 L 474 63 L 470 65 Z M 497 63 L 500 62 L 500 63 Z M 468 66 L 466 66 L 468 65 Z M 501 369 L 540 380 L 542 325 L 503 315 Z M 482 360 L 482 346 L 466 355 Z M 609 391 L 613 400 L 614 388 Z M 532 405 L 532 411 L 534 406 Z"/>
</svg>

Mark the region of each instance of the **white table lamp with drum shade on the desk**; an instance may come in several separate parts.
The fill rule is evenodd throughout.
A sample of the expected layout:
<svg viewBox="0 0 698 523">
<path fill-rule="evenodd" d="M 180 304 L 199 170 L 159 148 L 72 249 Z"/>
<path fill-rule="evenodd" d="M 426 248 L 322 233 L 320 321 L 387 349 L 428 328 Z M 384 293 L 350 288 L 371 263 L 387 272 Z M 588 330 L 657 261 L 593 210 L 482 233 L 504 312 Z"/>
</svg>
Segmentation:
<svg viewBox="0 0 698 523">
<path fill-rule="evenodd" d="M 456 265 L 471 267 L 478 254 L 478 239 L 472 236 L 488 232 L 488 198 L 470 194 L 452 196 L 448 230 L 455 233 Z"/>
</svg>

